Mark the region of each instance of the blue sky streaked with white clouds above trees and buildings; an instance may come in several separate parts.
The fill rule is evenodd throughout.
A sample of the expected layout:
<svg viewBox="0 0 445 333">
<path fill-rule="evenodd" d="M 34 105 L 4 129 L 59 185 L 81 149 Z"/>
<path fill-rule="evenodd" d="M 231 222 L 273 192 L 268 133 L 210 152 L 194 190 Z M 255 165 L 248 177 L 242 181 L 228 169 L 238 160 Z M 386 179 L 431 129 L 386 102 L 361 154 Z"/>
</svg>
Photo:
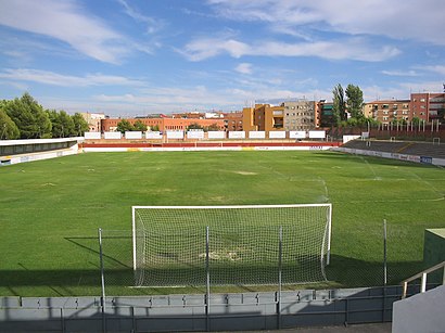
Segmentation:
<svg viewBox="0 0 445 333">
<path fill-rule="evenodd" d="M 444 0 L 0 0 L 0 99 L 135 116 L 441 92 Z"/>
</svg>

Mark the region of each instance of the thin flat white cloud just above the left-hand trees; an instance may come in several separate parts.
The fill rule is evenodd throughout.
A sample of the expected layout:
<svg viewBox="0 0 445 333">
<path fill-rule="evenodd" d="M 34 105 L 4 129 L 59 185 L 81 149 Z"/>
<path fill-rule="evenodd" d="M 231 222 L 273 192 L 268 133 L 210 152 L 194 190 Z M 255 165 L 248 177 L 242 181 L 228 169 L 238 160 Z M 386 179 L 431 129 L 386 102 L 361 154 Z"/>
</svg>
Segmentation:
<svg viewBox="0 0 445 333">
<path fill-rule="evenodd" d="M 62 75 L 40 69 L 11 69 L 0 72 L 0 78 L 13 81 L 33 81 L 59 87 L 90 87 L 90 86 L 135 86 L 143 84 L 139 80 L 122 76 L 88 74 L 86 76 Z"/>
</svg>

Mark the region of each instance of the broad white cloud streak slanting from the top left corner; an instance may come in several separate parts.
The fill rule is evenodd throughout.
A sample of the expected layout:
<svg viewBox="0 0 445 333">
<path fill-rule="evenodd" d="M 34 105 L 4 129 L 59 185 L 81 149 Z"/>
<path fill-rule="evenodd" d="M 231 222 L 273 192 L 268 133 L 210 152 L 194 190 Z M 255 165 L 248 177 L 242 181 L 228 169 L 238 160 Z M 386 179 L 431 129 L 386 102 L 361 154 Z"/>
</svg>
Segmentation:
<svg viewBox="0 0 445 333">
<path fill-rule="evenodd" d="M 73 1 L 0 0 L 0 4 L 1 25 L 62 40 L 101 62 L 118 63 L 129 51 L 124 36 L 82 13 Z"/>
</svg>

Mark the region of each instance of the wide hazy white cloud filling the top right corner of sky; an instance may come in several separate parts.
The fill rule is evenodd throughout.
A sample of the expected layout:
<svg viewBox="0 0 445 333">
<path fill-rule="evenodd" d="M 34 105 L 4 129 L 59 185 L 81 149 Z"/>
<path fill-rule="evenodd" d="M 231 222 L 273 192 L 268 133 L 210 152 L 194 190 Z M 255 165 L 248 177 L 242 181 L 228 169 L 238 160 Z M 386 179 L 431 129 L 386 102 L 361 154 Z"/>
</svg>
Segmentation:
<svg viewBox="0 0 445 333">
<path fill-rule="evenodd" d="M 275 30 L 333 30 L 445 46 L 443 0 L 208 0 L 229 20 L 263 21 Z"/>
</svg>

